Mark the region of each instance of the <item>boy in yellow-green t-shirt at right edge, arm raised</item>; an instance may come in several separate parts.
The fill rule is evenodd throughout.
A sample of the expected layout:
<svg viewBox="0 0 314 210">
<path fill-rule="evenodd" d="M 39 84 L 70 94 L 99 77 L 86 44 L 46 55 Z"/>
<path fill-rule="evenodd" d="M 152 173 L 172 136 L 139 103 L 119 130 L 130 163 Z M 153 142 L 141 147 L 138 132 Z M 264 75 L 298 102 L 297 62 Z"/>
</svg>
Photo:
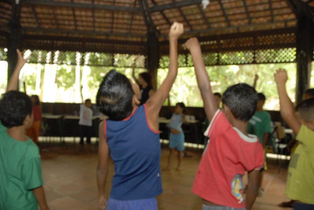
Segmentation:
<svg viewBox="0 0 314 210">
<path fill-rule="evenodd" d="M 294 111 L 286 91 L 284 69 L 275 73 L 280 114 L 296 134 L 299 144 L 290 160 L 285 194 L 294 200 L 294 209 L 314 209 L 314 98 L 302 101 Z"/>
</svg>

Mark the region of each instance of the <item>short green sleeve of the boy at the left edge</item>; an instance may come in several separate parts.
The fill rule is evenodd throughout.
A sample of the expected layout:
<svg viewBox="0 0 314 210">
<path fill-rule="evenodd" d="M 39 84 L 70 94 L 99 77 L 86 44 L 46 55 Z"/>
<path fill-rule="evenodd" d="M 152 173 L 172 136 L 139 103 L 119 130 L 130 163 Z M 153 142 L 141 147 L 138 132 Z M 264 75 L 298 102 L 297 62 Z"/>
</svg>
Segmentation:
<svg viewBox="0 0 314 210">
<path fill-rule="evenodd" d="M 41 161 L 36 145 L 28 149 L 22 165 L 22 177 L 26 190 L 32 190 L 43 185 L 41 177 Z"/>
</svg>

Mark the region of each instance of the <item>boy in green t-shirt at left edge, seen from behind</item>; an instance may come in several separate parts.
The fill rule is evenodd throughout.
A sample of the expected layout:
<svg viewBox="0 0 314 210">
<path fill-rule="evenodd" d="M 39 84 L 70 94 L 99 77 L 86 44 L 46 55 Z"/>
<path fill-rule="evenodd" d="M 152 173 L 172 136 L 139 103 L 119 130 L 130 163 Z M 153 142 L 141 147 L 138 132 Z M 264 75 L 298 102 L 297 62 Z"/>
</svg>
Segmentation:
<svg viewBox="0 0 314 210">
<path fill-rule="evenodd" d="M 25 135 L 33 123 L 32 101 L 16 91 L 26 60 L 18 62 L 0 100 L 0 209 L 47 210 L 37 145 Z"/>
</svg>

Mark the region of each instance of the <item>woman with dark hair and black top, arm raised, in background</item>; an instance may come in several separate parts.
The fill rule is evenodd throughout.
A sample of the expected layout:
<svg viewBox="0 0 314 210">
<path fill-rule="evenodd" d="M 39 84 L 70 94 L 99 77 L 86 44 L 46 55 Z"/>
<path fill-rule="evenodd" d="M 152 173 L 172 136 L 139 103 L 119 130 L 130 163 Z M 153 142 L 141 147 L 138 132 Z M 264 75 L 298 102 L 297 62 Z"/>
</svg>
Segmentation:
<svg viewBox="0 0 314 210">
<path fill-rule="evenodd" d="M 135 68 L 133 67 L 132 77 L 136 83 L 138 83 L 141 91 L 139 98 L 140 105 L 144 104 L 150 96 L 154 94 L 153 89 L 153 77 L 149 72 L 143 72 L 138 75 L 138 79 L 135 77 Z"/>
</svg>

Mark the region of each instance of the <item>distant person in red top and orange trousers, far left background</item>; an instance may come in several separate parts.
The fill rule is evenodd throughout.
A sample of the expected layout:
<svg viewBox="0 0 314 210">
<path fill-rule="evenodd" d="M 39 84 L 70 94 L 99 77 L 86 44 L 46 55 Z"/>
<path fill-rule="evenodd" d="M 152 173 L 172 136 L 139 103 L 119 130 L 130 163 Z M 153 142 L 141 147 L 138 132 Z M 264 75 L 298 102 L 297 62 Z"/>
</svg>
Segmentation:
<svg viewBox="0 0 314 210">
<path fill-rule="evenodd" d="M 33 103 L 33 115 L 34 122 L 32 126 L 27 130 L 26 135 L 30 137 L 36 144 L 38 144 L 38 136 L 41 130 L 41 108 L 38 95 L 32 95 L 30 97 Z"/>
</svg>

